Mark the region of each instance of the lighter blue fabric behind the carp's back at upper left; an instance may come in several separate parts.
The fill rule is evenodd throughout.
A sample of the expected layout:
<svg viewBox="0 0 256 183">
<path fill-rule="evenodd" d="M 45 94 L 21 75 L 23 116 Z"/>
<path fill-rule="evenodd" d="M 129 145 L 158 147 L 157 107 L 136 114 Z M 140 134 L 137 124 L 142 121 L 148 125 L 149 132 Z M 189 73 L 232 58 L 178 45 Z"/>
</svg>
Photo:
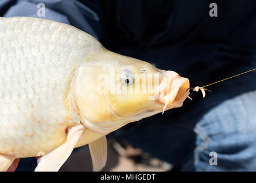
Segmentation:
<svg viewBox="0 0 256 183">
<path fill-rule="evenodd" d="M 38 3 L 45 4 L 45 17 L 37 17 Z M 37 17 L 68 23 L 86 31 L 95 38 L 100 34 L 99 17 L 76 0 L 1 0 L 2 17 Z"/>
</svg>

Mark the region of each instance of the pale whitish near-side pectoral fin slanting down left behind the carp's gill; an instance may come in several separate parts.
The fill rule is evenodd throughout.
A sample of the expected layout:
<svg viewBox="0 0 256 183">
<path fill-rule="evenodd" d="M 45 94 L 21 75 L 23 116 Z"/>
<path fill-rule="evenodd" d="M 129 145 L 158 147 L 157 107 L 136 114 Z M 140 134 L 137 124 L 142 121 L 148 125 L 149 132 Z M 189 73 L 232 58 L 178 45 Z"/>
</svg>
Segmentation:
<svg viewBox="0 0 256 183">
<path fill-rule="evenodd" d="M 72 126 L 68 129 L 67 141 L 59 146 L 59 148 L 53 150 L 46 156 L 41 157 L 39 164 L 37 165 L 35 172 L 55 172 L 58 171 L 64 162 L 68 159 L 79 140 L 79 137 L 84 131 L 83 125 Z"/>
</svg>

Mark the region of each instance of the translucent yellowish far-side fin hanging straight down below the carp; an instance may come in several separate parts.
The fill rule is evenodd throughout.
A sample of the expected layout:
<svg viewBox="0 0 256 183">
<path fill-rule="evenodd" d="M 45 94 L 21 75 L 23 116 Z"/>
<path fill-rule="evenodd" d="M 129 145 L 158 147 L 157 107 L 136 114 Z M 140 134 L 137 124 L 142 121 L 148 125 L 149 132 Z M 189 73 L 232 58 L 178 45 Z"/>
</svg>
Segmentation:
<svg viewBox="0 0 256 183">
<path fill-rule="evenodd" d="M 103 169 L 107 162 L 107 139 L 106 136 L 89 144 L 94 172 Z"/>
</svg>

